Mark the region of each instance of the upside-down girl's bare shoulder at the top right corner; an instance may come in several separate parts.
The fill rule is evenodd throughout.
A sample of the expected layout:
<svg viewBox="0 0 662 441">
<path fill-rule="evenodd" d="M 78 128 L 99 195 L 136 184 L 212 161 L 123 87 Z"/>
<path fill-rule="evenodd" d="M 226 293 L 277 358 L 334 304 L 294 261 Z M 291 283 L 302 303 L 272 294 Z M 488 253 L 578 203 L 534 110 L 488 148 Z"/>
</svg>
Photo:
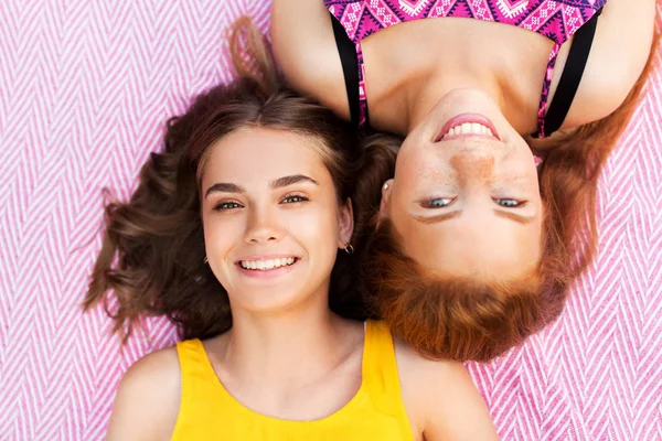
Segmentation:
<svg viewBox="0 0 662 441">
<path fill-rule="evenodd" d="M 601 119 L 623 103 L 651 52 L 654 22 L 655 0 L 607 2 L 564 127 Z"/>
</svg>

